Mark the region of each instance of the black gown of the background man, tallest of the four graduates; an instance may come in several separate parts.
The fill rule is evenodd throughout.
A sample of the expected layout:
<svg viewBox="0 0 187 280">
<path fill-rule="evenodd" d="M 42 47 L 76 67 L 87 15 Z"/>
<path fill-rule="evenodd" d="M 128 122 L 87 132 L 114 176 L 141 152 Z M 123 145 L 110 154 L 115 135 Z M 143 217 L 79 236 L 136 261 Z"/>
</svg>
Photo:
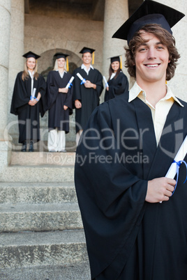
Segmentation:
<svg viewBox="0 0 187 280">
<path fill-rule="evenodd" d="M 77 73 L 86 79 L 91 81 L 92 84 L 96 84 L 96 89 L 85 88 L 84 84 L 81 84 L 81 80 L 77 77 Z M 89 116 L 92 111 L 99 104 L 99 97 L 103 91 L 103 76 L 96 69 L 90 69 L 89 75 L 81 68 L 75 69 L 73 76 L 74 79 L 74 88 L 73 88 L 73 101 L 80 100 L 82 103 L 82 108 L 75 109 L 75 121 L 76 121 L 76 132 L 84 129 Z"/>
</svg>

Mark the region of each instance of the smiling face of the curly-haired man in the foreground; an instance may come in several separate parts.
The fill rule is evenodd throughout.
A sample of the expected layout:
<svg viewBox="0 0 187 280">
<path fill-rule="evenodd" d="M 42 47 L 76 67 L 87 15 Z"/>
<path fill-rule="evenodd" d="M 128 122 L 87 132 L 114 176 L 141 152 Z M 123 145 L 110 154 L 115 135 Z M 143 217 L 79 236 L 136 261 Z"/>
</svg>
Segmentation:
<svg viewBox="0 0 187 280">
<path fill-rule="evenodd" d="M 137 84 L 164 81 L 166 69 L 170 62 L 167 47 L 153 33 L 142 31 L 144 43 L 135 52 L 135 70 Z"/>
</svg>

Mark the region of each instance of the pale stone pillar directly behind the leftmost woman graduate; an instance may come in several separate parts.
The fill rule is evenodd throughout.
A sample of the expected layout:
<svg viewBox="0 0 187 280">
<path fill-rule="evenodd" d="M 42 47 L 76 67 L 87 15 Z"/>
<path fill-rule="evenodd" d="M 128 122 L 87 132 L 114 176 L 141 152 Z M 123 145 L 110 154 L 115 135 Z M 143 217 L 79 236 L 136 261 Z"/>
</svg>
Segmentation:
<svg viewBox="0 0 187 280">
<path fill-rule="evenodd" d="M 18 138 L 17 116 L 10 114 L 10 104 L 17 73 L 24 69 L 24 0 L 13 0 L 10 20 L 10 52 L 8 72 L 8 133 Z"/>
</svg>

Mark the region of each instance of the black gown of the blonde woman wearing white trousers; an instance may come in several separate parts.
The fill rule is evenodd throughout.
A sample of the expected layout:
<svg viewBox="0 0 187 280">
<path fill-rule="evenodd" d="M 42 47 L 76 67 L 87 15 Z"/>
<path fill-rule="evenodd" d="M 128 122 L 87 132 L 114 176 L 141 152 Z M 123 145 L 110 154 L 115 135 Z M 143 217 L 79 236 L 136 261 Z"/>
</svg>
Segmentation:
<svg viewBox="0 0 187 280">
<path fill-rule="evenodd" d="M 63 130 L 69 132 L 69 115 L 72 114 L 72 86 L 68 89 L 68 93 L 59 93 L 59 88 L 65 88 L 72 76 L 68 72 L 64 72 L 63 78 L 59 75 L 59 71 L 52 70 L 47 76 L 47 108 L 49 109 L 49 130 Z M 68 107 L 63 109 L 63 105 Z"/>
</svg>

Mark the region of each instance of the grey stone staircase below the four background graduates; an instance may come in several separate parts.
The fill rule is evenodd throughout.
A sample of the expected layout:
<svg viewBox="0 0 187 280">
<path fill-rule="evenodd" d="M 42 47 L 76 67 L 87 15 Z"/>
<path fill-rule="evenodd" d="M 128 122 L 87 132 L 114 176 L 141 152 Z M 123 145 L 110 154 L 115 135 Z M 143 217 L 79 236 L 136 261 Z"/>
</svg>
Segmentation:
<svg viewBox="0 0 187 280">
<path fill-rule="evenodd" d="M 89 280 L 75 153 L 12 151 L 0 182 L 0 279 Z"/>
</svg>

